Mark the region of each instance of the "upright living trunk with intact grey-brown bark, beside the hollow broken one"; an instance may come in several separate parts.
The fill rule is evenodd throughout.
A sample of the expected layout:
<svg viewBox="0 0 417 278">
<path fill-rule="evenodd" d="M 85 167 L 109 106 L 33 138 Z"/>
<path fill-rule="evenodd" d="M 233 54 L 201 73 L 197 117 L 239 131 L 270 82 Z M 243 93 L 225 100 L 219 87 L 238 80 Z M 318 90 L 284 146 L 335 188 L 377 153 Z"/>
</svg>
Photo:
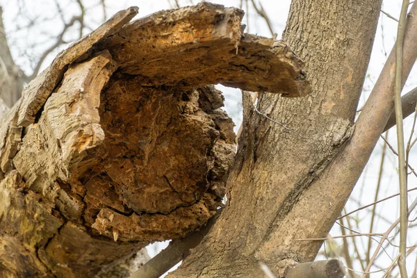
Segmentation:
<svg viewBox="0 0 417 278">
<path fill-rule="evenodd" d="M 313 92 L 302 99 L 260 94 L 257 109 L 293 131 L 256 113 L 243 94 L 228 203 L 169 277 L 262 277 L 259 261 L 281 277 L 288 265 L 316 257 L 322 242 L 298 239 L 327 236 L 359 177 L 344 186 L 319 179 L 352 135 L 380 6 L 293 0 L 283 38 L 306 63 Z"/>
</svg>

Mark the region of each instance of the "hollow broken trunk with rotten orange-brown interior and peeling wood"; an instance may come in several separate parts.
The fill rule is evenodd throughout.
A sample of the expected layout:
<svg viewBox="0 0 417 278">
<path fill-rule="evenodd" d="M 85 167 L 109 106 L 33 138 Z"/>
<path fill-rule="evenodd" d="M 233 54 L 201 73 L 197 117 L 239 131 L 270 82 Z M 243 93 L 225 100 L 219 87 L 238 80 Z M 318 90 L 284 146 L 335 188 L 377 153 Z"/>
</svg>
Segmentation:
<svg viewBox="0 0 417 278">
<path fill-rule="evenodd" d="M 0 271 L 126 277 L 138 250 L 221 206 L 233 122 L 210 84 L 308 95 L 285 44 L 211 3 L 128 23 L 124 10 L 58 54 L 0 126 Z"/>
</svg>

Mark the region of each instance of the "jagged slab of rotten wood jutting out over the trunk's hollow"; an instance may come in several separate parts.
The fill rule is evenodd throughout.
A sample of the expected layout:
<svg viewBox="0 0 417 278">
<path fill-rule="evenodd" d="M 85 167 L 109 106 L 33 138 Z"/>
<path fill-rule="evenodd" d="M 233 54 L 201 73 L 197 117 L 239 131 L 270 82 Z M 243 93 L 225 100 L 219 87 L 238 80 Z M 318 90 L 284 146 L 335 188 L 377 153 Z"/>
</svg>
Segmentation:
<svg viewBox="0 0 417 278">
<path fill-rule="evenodd" d="M 142 85 L 222 83 L 308 95 L 302 61 L 282 42 L 243 34 L 242 17 L 242 10 L 211 3 L 162 11 L 127 24 L 97 48 L 111 51 L 121 72 L 142 76 Z"/>
</svg>

